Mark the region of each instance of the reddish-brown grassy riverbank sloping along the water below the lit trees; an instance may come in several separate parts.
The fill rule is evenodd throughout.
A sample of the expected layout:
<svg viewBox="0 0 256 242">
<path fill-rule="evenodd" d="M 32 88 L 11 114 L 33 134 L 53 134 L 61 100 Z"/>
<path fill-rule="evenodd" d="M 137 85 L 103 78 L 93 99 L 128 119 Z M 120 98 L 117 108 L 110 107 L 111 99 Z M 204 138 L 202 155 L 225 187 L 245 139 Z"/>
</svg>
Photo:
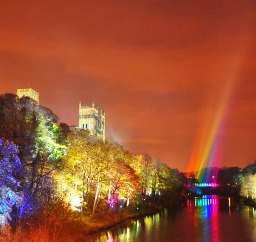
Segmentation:
<svg viewBox="0 0 256 242">
<path fill-rule="evenodd" d="M 154 215 L 168 206 L 151 206 L 147 209 L 137 211 L 134 208 L 123 208 L 97 213 L 91 218 L 90 215 L 73 212 L 66 217 L 65 221 L 61 214 L 56 213 L 59 218 L 59 227 L 48 224 L 34 224 L 31 227 L 11 231 L 11 227 L 0 228 L 0 241 L 6 242 L 89 242 L 94 234 L 114 227 L 129 219 Z M 65 224 L 65 226 L 61 226 Z M 92 235 L 92 237 L 91 237 Z M 94 240 L 92 240 L 94 241 Z"/>
</svg>

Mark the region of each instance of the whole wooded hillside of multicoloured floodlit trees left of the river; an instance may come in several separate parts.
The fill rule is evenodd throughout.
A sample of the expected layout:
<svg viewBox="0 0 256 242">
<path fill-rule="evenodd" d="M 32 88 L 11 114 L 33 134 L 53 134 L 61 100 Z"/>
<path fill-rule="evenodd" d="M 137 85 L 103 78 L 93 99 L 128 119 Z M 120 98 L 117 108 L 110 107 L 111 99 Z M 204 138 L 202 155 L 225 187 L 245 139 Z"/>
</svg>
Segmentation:
<svg viewBox="0 0 256 242">
<path fill-rule="evenodd" d="M 148 154 L 59 124 L 30 98 L 0 96 L 0 240 L 54 241 L 95 216 L 170 205 L 180 198 L 179 175 Z"/>
</svg>

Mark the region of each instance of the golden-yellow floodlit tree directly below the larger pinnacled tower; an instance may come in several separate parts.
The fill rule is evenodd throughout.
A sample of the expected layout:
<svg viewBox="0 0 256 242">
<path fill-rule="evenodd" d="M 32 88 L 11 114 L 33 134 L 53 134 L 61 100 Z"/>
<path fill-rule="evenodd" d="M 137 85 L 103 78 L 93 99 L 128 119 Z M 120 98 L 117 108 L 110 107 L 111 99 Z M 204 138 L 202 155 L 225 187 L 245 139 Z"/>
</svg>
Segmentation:
<svg viewBox="0 0 256 242">
<path fill-rule="evenodd" d="M 113 163 L 111 146 L 89 137 L 87 130 L 72 130 L 68 136 L 65 171 L 59 177 L 60 190 L 73 209 L 90 208 L 93 214 Z"/>
</svg>

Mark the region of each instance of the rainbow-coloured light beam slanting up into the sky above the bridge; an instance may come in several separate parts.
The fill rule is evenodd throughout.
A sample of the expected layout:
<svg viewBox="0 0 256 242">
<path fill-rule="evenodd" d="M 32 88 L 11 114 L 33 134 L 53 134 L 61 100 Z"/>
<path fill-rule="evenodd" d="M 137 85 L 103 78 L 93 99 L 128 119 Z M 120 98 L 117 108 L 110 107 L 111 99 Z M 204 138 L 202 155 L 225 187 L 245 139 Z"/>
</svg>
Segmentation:
<svg viewBox="0 0 256 242">
<path fill-rule="evenodd" d="M 237 82 L 242 59 L 242 51 L 238 51 L 233 63 L 230 65 L 224 86 L 215 98 L 217 109 L 215 112 L 204 113 L 202 125 L 198 130 L 189 161 L 188 171 L 194 171 L 200 183 L 216 183 L 218 170 L 206 172 L 205 167 L 219 167 L 222 159 L 222 137 L 224 135 L 224 124 L 229 113 L 229 107 Z"/>
</svg>

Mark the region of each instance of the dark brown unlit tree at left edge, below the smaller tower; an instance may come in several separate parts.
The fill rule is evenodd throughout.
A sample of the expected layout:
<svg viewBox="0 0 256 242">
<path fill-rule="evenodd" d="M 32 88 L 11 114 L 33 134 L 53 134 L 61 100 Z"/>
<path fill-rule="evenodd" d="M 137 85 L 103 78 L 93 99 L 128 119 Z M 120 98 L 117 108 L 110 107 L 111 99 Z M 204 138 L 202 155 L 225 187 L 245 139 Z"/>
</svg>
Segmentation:
<svg viewBox="0 0 256 242">
<path fill-rule="evenodd" d="M 18 146 L 19 158 L 25 166 L 35 156 L 37 109 L 30 98 L 17 99 L 13 94 L 0 96 L 0 137 Z"/>
</svg>

